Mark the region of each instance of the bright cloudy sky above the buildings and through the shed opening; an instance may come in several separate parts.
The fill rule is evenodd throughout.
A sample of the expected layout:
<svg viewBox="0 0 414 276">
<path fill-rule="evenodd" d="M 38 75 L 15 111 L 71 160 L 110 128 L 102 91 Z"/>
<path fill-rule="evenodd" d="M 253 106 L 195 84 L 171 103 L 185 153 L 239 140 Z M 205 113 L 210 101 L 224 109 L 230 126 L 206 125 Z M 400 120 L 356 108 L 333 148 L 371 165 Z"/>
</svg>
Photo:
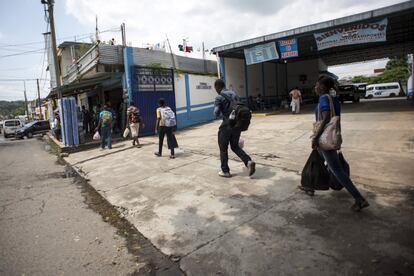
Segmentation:
<svg viewBox="0 0 414 276">
<path fill-rule="evenodd" d="M 55 25 L 58 43 L 66 40 L 90 42 L 95 18 L 102 40 L 121 41 L 119 26 L 126 24 L 127 42 L 142 47 L 163 42 L 168 36 L 173 52 L 187 39 L 195 53 L 202 42 L 206 49 L 244 39 L 284 31 L 321 21 L 352 15 L 403 1 L 395 0 L 56 0 Z M 333 6 L 332 3 L 335 3 Z M 49 90 L 42 33 L 46 32 L 40 0 L 0 1 L 0 100 L 41 97 Z M 16 55 L 17 54 L 17 55 Z M 12 56 L 10 56 L 12 55 Z M 208 58 L 214 59 L 214 56 Z M 335 66 L 340 77 L 370 74 L 385 60 Z M 19 81 L 8 81 L 19 79 Z M 7 80 L 7 81 L 6 81 Z"/>
</svg>

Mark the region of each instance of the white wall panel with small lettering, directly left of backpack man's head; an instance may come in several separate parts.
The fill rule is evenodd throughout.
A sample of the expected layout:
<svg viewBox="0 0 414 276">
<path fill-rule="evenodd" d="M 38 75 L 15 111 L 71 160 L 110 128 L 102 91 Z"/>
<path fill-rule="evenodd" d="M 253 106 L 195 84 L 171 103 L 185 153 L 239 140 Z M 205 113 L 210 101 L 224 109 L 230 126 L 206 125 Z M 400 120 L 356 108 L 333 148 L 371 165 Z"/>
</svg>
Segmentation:
<svg viewBox="0 0 414 276">
<path fill-rule="evenodd" d="M 211 76 L 189 75 L 191 105 L 214 102 L 214 98 L 217 96 L 214 90 L 216 79 Z"/>
</svg>

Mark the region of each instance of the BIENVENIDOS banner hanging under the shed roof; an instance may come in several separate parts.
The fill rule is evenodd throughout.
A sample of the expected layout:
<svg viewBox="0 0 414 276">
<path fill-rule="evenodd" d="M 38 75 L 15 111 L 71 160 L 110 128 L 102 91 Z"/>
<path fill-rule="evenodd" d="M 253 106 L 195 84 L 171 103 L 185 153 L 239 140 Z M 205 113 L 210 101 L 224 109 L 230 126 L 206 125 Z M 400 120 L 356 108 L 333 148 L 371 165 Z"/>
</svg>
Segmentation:
<svg viewBox="0 0 414 276">
<path fill-rule="evenodd" d="M 388 19 L 371 23 L 358 23 L 344 28 L 336 28 L 313 34 L 318 50 L 332 47 L 370 42 L 387 41 Z"/>
</svg>

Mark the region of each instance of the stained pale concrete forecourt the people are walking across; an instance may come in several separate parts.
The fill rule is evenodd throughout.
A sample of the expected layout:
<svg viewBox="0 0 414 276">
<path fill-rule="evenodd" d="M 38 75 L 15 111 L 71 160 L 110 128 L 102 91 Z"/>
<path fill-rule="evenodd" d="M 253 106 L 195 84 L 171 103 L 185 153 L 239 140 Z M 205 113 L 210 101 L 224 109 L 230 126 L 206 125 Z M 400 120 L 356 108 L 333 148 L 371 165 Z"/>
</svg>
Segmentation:
<svg viewBox="0 0 414 276">
<path fill-rule="evenodd" d="M 65 159 L 188 275 L 409 275 L 414 113 L 352 108 L 344 154 L 371 203 L 362 213 L 349 210 L 346 191 L 297 190 L 312 114 L 253 118 L 243 134 L 258 163 L 252 178 L 235 160 L 233 178 L 217 176 L 219 122 L 179 132 L 174 160 L 153 155 L 155 137 Z"/>
</svg>

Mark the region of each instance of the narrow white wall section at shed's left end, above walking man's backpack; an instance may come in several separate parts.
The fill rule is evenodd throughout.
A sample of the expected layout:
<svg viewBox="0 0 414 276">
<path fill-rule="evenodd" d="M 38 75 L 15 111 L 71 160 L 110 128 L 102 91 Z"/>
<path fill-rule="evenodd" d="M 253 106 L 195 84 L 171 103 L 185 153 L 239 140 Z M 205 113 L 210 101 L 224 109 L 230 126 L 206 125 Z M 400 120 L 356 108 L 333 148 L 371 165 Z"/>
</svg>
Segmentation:
<svg viewBox="0 0 414 276">
<path fill-rule="evenodd" d="M 226 87 L 234 90 L 240 97 L 245 97 L 244 60 L 224 58 Z"/>
</svg>

